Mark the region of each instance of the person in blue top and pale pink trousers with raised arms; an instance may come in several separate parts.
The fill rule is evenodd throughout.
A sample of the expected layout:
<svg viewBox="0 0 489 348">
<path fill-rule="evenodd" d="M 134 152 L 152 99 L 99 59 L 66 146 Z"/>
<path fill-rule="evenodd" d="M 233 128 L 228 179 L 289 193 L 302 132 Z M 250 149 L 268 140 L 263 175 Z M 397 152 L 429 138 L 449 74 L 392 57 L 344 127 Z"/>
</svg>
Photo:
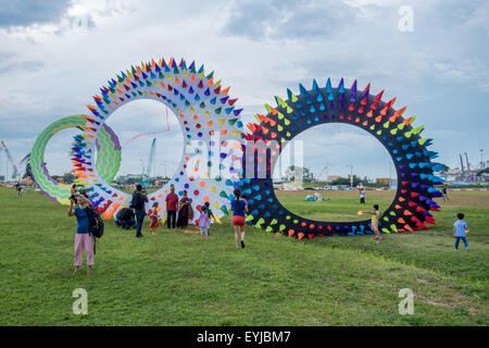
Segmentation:
<svg viewBox="0 0 489 348">
<path fill-rule="evenodd" d="M 73 207 L 76 204 L 76 208 Z M 82 265 L 82 254 L 85 249 L 87 256 L 87 274 L 91 273 L 93 265 L 93 246 L 95 239 L 90 234 L 90 220 L 88 219 L 88 210 L 91 209 L 91 202 L 83 195 L 74 195 L 74 199 L 70 199 L 68 216 L 76 216 L 76 234 L 75 234 L 75 271 L 79 271 Z"/>
</svg>

